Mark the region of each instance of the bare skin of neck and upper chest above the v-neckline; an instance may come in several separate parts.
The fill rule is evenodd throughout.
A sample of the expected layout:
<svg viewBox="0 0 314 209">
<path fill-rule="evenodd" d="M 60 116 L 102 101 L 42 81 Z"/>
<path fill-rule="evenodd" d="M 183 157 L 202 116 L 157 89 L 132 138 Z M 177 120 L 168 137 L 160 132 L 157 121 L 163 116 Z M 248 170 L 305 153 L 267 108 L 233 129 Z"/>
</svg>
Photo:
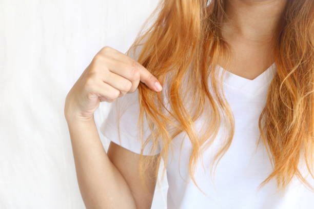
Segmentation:
<svg viewBox="0 0 314 209">
<path fill-rule="evenodd" d="M 222 35 L 230 45 L 229 72 L 254 79 L 272 63 L 273 31 L 279 24 L 286 0 L 228 0 Z M 220 66 L 225 67 L 224 60 Z"/>
</svg>

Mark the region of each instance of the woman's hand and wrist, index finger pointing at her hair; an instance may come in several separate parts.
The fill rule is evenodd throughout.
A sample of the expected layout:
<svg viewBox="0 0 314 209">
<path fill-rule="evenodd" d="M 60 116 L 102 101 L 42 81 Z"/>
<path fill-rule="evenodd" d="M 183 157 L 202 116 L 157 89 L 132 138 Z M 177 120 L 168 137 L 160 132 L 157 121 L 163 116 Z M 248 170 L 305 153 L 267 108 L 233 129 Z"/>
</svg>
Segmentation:
<svg viewBox="0 0 314 209">
<path fill-rule="evenodd" d="M 112 102 L 144 82 L 161 91 L 159 81 L 139 62 L 111 48 L 102 48 L 74 83 L 65 102 L 66 119 L 89 120 L 101 101 Z"/>
</svg>

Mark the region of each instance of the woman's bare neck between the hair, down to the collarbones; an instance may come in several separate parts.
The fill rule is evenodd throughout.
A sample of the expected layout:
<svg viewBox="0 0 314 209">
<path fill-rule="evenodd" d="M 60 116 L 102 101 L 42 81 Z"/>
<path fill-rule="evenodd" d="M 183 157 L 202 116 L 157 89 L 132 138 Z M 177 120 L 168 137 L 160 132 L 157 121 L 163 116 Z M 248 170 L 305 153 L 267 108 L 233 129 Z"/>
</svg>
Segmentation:
<svg viewBox="0 0 314 209">
<path fill-rule="evenodd" d="M 270 43 L 287 0 L 227 0 L 223 25 L 226 38 L 247 44 Z"/>
</svg>

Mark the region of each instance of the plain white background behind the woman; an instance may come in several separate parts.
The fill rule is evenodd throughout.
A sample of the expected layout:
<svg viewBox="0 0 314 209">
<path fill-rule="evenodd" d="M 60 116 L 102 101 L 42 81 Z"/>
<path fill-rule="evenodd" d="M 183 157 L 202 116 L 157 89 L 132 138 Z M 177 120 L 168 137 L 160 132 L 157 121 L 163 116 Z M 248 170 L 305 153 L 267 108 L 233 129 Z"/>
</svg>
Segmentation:
<svg viewBox="0 0 314 209">
<path fill-rule="evenodd" d="M 65 97 L 103 46 L 126 52 L 157 3 L 0 0 L 0 208 L 85 208 Z M 152 208 L 165 208 L 166 191 L 159 182 Z"/>
</svg>

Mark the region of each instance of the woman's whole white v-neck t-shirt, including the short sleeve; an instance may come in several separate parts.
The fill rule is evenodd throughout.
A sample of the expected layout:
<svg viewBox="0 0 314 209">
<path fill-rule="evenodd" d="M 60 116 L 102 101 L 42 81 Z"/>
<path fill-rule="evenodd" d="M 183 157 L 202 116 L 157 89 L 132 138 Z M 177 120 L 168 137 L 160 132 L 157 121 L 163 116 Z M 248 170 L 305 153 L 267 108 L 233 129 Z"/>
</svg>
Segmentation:
<svg viewBox="0 0 314 209">
<path fill-rule="evenodd" d="M 219 72 L 225 72 L 224 92 L 234 115 L 235 132 L 232 143 L 219 161 L 214 179 L 211 178 L 209 165 L 222 144 L 220 139 L 225 137 L 223 125 L 213 144 L 203 153 L 205 170 L 201 164 L 198 164 L 194 177 L 205 192 L 204 195 L 188 175 L 191 144 L 187 140 L 186 133 L 183 132 L 173 139 L 174 152 L 173 155 L 169 155 L 166 165 L 169 185 L 168 209 L 314 208 L 313 193 L 297 178 L 292 180 L 283 193 L 276 193 L 277 185 L 274 179 L 258 189 L 260 183 L 272 171 L 263 143 L 260 143 L 258 148 L 256 144 L 260 135 L 258 119 L 265 105 L 269 83 L 276 73 L 276 65 L 272 64 L 253 80 L 232 74 L 222 67 L 218 69 Z M 124 114 L 118 129 L 116 116 L 117 111 L 121 109 Z M 135 91 L 112 103 L 110 113 L 101 126 L 101 133 L 114 143 L 132 152 L 140 153 L 141 142 L 136 135 L 138 116 L 138 91 Z M 195 121 L 196 127 L 198 124 L 202 124 L 202 119 Z M 144 154 L 149 154 L 149 145 L 146 148 Z M 155 154 L 160 150 L 161 148 Z M 313 185 L 310 175 L 306 179 Z"/>
</svg>

